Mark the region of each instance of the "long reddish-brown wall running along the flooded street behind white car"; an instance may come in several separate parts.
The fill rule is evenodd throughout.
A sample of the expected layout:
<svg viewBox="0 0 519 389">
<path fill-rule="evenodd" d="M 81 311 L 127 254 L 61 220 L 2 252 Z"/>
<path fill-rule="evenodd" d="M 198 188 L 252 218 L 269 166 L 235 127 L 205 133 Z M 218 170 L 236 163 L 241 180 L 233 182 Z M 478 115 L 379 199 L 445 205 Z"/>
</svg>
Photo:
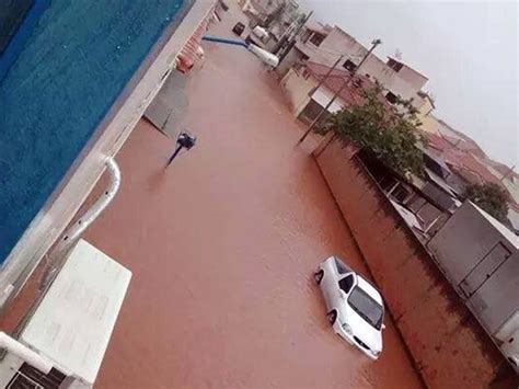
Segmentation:
<svg viewBox="0 0 519 389">
<path fill-rule="evenodd" d="M 511 379 L 500 353 L 354 153 L 333 141 L 316 161 L 427 386 L 486 388 L 503 369 Z"/>
</svg>

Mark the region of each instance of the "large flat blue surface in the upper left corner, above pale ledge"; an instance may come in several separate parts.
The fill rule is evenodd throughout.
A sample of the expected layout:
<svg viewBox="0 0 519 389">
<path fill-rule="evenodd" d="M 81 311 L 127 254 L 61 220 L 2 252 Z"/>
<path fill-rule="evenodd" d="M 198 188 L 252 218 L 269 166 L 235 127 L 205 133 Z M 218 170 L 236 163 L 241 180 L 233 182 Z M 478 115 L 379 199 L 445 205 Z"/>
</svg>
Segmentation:
<svg viewBox="0 0 519 389">
<path fill-rule="evenodd" d="M 186 0 L 53 0 L 0 81 L 0 263 Z"/>
</svg>

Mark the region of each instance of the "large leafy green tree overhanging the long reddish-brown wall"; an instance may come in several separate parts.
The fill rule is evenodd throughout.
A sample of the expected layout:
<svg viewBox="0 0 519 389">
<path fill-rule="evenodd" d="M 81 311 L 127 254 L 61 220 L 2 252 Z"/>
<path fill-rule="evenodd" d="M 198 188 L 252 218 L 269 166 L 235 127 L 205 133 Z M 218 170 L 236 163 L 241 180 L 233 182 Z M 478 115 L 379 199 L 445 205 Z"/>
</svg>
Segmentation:
<svg viewBox="0 0 519 389">
<path fill-rule="evenodd" d="M 334 131 L 339 139 L 372 151 L 404 176 L 422 175 L 424 158 L 417 144 L 424 139 L 417 130 L 422 125 L 417 112 L 411 101 L 399 100 L 394 107 L 389 107 L 381 92 L 380 85 L 362 91 L 362 104 L 331 115 L 316 131 Z"/>
</svg>

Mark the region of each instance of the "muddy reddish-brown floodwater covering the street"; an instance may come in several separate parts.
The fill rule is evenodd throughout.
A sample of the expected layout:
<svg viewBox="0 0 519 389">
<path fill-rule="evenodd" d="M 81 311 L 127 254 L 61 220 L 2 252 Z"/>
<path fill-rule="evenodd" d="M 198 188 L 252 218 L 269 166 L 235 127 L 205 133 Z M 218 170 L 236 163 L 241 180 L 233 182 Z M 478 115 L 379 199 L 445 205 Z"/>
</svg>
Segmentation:
<svg viewBox="0 0 519 389">
<path fill-rule="evenodd" d="M 296 147 L 303 126 L 254 56 L 204 47 L 186 85 L 197 145 L 164 169 L 174 141 L 141 121 L 85 237 L 134 273 L 96 387 L 420 387 L 389 318 L 376 363 L 332 332 L 314 268 L 338 254 L 367 270 L 311 145 Z"/>
</svg>

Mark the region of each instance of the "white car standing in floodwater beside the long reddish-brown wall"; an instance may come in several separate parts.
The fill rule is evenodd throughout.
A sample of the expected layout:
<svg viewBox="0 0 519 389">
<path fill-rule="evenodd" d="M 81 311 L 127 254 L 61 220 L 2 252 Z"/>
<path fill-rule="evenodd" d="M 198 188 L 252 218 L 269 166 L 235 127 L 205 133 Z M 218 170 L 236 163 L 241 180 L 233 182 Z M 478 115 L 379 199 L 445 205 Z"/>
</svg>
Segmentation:
<svg viewBox="0 0 519 389">
<path fill-rule="evenodd" d="M 377 359 L 382 352 L 382 330 L 385 328 L 380 293 L 336 256 L 321 263 L 314 277 L 335 332 L 371 359 Z"/>
</svg>

